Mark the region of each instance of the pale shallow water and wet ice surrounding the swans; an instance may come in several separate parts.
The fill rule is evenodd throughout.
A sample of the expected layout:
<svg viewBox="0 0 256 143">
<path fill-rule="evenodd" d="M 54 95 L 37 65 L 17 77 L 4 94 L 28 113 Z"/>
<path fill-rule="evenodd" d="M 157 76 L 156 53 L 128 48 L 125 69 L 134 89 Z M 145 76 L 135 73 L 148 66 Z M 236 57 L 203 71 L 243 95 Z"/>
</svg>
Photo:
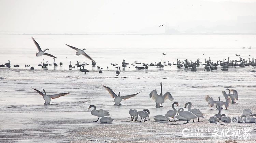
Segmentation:
<svg viewBox="0 0 256 143">
<path fill-rule="evenodd" d="M 256 75 L 252 72 L 255 70 L 253 67 L 231 67 L 228 71 L 221 71 L 221 67 L 218 67 L 217 71 L 209 72 L 204 71 L 204 66 L 199 66 L 197 72 L 191 72 L 177 70 L 174 65 L 165 66 L 162 70 L 149 67 L 147 71 L 136 70 L 130 65 L 131 68 L 121 68 L 120 75 L 116 77 L 116 69 L 110 65 L 112 62 L 121 66 L 123 59 L 131 64 L 133 61 L 149 63 L 161 59 L 172 63 L 176 62 L 176 58 L 192 61 L 200 58 L 204 61 L 209 56 L 214 61 L 228 57 L 238 60 L 239 57 L 234 54 L 240 54 L 243 58 L 249 58 L 248 55 L 255 57 L 255 35 L 36 35 L 34 38 L 38 39 L 40 46 L 42 44 L 50 49 L 48 53 L 58 57 L 56 63 L 62 61 L 65 65 L 55 70 L 53 66 L 48 69 L 38 67 L 42 59 L 53 59 L 34 55 L 37 49 L 30 35 L 0 35 L 3 43 L 0 46 L 0 61 L 10 59 L 12 66 L 21 65 L 19 68 L 0 68 L 0 76 L 4 76 L 0 79 L 1 142 L 204 142 L 212 140 L 211 133 L 206 133 L 205 137 L 185 138 L 181 134 L 182 129 L 226 127 L 250 127 L 252 139 L 245 141 L 256 140 L 255 124 L 208 123 L 207 120 L 217 111 L 204 100 L 206 95 L 210 95 L 214 100 L 220 96 L 224 101 L 222 91 L 226 88 L 236 89 L 239 94 L 237 104 L 231 105 L 229 110 L 222 110 L 222 113 L 241 115 L 246 108 L 251 108 L 254 113 Z M 86 74 L 77 68 L 64 70 L 68 68 L 68 61 L 88 60 L 75 56 L 75 51 L 63 43 L 77 45 L 81 49 L 88 47 L 86 51 L 97 62 L 96 66 L 103 67 L 103 73 L 99 74 L 97 67 L 91 65 L 86 66 L 90 70 Z M 251 45 L 252 49 L 241 48 Z M 162 52 L 167 56 L 162 56 Z M 29 70 L 30 67 L 23 66 L 25 64 L 36 69 Z M 192 102 L 194 108 L 200 109 L 205 117 L 200 119 L 202 122 L 188 125 L 182 124 L 185 121 L 129 122 L 129 109 L 150 109 L 151 119 L 171 109 L 173 102 L 167 100 L 162 108 L 156 108 L 155 102 L 149 98 L 149 93 L 154 89 L 160 93 L 160 82 L 163 83 L 163 93 L 169 91 L 181 107 L 186 102 Z M 114 99 L 103 85 L 112 88 L 115 93 L 121 92 L 121 96 L 142 92 L 123 100 L 122 106 L 114 106 Z M 52 105 L 43 105 L 42 96 L 31 87 L 40 91 L 45 89 L 49 95 L 60 92 L 70 94 L 52 100 Z M 113 123 L 92 122 L 97 117 L 90 114 L 91 109 L 87 110 L 91 104 L 96 105 L 97 109 L 109 111 Z"/>
</svg>

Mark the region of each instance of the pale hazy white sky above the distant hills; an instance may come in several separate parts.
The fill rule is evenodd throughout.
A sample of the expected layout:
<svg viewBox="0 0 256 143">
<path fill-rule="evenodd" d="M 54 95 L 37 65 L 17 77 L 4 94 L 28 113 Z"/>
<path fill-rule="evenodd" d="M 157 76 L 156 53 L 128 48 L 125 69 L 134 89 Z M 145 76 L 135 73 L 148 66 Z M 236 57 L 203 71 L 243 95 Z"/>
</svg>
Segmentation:
<svg viewBox="0 0 256 143">
<path fill-rule="evenodd" d="M 159 24 L 255 18 L 255 7 L 256 0 L 0 0 L 0 32 L 154 33 Z"/>
</svg>

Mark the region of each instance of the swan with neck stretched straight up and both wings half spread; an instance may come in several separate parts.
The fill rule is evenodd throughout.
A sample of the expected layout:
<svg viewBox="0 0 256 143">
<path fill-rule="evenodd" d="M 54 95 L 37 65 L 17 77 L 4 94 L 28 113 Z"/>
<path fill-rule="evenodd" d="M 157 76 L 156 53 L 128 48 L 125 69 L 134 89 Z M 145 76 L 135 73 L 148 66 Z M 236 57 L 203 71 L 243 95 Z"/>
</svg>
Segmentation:
<svg viewBox="0 0 256 143">
<path fill-rule="evenodd" d="M 170 92 L 166 92 L 164 95 L 162 95 L 162 83 L 160 83 L 161 86 L 161 93 L 160 95 L 157 94 L 156 89 L 150 92 L 150 98 L 152 97 L 153 100 L 156 101 L 157 107 L 162 107 L 162 104 L 169 99 L 170 101 L 173 101 L 173 97 Z"/>
</svg>

